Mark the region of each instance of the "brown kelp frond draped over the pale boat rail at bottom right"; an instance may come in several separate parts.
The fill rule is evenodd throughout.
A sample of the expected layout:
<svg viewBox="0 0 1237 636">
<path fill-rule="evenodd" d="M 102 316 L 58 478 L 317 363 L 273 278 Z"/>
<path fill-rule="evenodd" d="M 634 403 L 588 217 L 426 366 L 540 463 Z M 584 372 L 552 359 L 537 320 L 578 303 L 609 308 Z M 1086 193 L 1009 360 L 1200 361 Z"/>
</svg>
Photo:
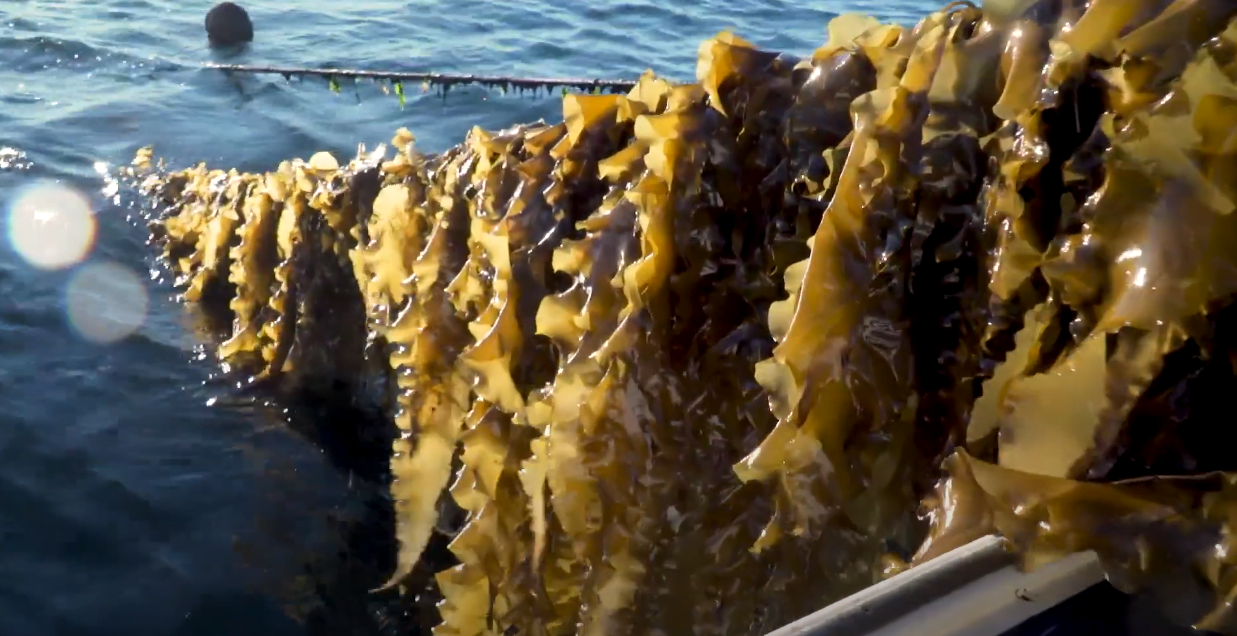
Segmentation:
<svg viewBox="0 0 1237 636">
<path fill-rule="evenodd" d="M 1098 484 L 1002 468 L 962 450 L 945 466 L 949 480 L 931 501 L 933 536 L 918 559 L 990 532 L 1006 537 L 1027 568 L 1091 549 L 1108 580 L 1154 590 L 1174 619 L 1222 634 L 1237 629 L 1237 475 Z"/>
</svg>

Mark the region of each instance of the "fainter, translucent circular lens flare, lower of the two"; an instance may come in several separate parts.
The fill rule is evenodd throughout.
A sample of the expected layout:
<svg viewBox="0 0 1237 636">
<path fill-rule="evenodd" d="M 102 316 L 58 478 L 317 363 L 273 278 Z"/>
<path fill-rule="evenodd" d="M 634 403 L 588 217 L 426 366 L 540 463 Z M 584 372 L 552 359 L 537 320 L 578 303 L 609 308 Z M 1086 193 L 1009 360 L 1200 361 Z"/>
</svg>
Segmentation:
<svg viewBox="0 0 1237 636">
<path fill-rule="evenodd" d="M 66 291 L 69 324 L 87 340 L 124 340 L 146 322 L 150 298 L 141 278 L 115 262 L 92 262 L 73 273 Z"/>
</svg>

